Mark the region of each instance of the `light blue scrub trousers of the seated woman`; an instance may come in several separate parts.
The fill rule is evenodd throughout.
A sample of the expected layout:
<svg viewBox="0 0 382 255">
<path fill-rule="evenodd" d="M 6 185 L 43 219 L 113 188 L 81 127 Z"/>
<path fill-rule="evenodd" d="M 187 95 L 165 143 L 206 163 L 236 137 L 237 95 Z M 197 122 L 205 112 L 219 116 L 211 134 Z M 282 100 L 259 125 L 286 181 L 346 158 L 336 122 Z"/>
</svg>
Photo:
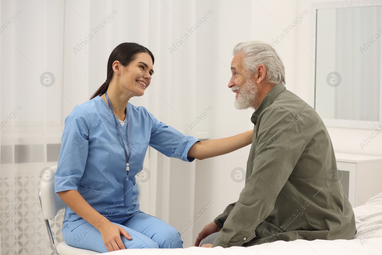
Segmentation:
<svg viewBox="0 0 382 255">
<path fill-rule="evenodd" d="M 126 221 L 118 224 L 123 227 L 133 239 L 121 236 L 126 249 L 139 248 L 183 248 L 183 240 L 175 228 L 152 215 L 139 212 Z M 95 252 L 107 252 L 101 233 L 86 222 L 70 231 L 64 224 L 62 236 L 66 244 Z"/>
</svg>

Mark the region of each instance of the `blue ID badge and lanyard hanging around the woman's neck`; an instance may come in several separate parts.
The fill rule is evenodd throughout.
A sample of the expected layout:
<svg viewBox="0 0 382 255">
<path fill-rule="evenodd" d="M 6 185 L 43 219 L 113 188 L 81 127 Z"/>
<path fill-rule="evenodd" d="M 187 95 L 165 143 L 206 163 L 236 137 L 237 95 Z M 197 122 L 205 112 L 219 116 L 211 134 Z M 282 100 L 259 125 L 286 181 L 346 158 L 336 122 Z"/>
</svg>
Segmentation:
<svg viewBox="0 0 382 255">
<path fill-rule="evenodd" d="M 112 103 L 110 102 L 107 92 L 105 93 L 105 96 L 110 106 L 110 109 L 113 109 Z M 113 111 L 113 114 L 114 114 L 114 111 Z M 127 154 L 125 143 L 123 142 L 123 137 L 122 137 L 118 120 L 115 114 L 114 114 L 114 119 L 115 119 L 115 122 L 117 123 L 118 132 L 120 133 L 122 147 L 123 147 L 123 150 L 125 151 L 125 159 L 126 159 L 126 174 L 127 175 L 126 175 L 126 180 L 123 181 L 123 203 L 125 204 L 125 206 L 131 207 L 133 206 L 133 182 L 129 180 L 129 159 L 131 155 L 131 146 L 130 146 L 130 132 L 129 132 L 129 115 L 127 112 L 127 106 L 126 106 L 126 125 L 127 125 L 127 141 L 129 146 L 129 154 Z"/>
</svg>

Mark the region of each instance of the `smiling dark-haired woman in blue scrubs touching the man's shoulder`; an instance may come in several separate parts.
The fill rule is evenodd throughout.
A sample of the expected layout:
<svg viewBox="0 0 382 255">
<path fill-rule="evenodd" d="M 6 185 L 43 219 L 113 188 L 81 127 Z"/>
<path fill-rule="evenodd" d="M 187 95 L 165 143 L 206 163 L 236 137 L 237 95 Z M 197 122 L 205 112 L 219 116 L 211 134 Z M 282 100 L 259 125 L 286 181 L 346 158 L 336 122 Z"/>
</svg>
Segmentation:
<svg viewBox="0 0 382 255">
<path fill-rule="evenodd" d="M 145 107 L 128 103 L 150 85 L 153 64 L 146 47 L 118 45 L 110 54 L 105 83 L 65 118 L 55 191 L 67 205 L 62 234 L 68 245 L 100 253 L 181 248 L 178 231 L 139 209 L 135 175 L 142 171 L 148 146 L 191 162 L 252 142 L 253 130 L 199 141 L 160 122 Z"/>
</svg>

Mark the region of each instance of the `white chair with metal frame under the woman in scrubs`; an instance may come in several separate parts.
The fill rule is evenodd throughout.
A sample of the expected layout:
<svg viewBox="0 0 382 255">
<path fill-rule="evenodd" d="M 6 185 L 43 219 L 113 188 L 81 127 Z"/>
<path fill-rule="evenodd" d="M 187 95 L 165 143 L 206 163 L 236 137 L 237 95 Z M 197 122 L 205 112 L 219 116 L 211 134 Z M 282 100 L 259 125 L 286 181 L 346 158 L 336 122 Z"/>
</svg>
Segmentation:
<svg viewBox="0 0 382 255">
<path fill-rule="evenodd" d="M 40 204 L 42 208 L 42 214 L 44 216 L 45 225 L 47 227 L 48 235 L 50 238 L 50 244 L 52 245 L 53 252 L 56 255 L 94 255 L 100 254 L 91 250 L 78 249 L 71 247 L 66 244 L 66 242 L 61 242 L 57 245 L 57 249 L 54 244 L 52 231 L 50 231 L 49 219 L 54 219 L 57 215 L 57 212 L 65 209 L 66 204 L 64 201 L 55 193 L 54 187 L 54 173 L 57 166 L 53 166 L 52 170 L 44 174 L 39 191 Z"/>
</svg>

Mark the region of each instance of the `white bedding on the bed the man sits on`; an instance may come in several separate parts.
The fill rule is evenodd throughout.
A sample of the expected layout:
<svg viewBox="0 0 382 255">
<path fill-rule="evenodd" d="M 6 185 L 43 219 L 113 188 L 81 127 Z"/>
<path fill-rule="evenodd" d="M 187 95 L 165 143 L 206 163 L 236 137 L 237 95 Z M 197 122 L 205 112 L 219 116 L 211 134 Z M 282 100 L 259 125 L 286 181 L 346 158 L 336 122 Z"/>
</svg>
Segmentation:
<svg viewBox="0 0 382 255">
<path fill-rule="evenodd" d="M 352 240 L 275 241 L 250 247 L 185 249 L 128 249 L 107 252 L 113 255 L 382 255 L 382 193 L 370 198 L 365 205 L 354 208 L 357 234 Z"/>
</svg>

